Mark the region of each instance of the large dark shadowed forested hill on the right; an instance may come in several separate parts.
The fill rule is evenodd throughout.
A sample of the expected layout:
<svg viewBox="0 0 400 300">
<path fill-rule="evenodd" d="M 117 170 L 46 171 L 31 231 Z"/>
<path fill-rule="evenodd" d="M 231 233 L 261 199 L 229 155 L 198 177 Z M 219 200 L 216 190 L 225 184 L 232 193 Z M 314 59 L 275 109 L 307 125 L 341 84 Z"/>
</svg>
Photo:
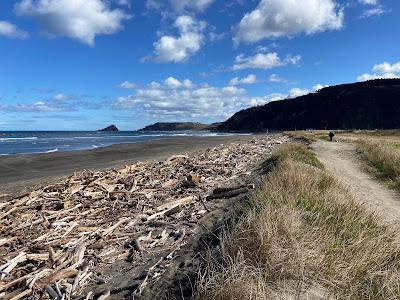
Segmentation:
<svg viewBox="0 0 400 300">
<path fill-rule="evenodd" d="M 400 79 L 324 88 L 237 112 L 222 131 L 400 128 Z"/>
</svg>

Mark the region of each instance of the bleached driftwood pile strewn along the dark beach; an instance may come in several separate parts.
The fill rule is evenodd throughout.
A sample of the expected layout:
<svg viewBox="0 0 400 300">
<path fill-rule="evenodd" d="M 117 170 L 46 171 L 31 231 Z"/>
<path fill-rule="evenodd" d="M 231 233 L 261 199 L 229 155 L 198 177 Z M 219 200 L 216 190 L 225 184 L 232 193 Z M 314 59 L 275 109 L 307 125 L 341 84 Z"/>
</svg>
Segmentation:
<svg viewBox="0 0 400 300">
<path fill-rule="evenodd" d="M 107 265 L 163 253 L 137 282 L 140 294 L 194 233 L 207 204 L 247 192 L 227 186 L 285 141 L 260 136 L 164 162 L 83 171 L 0 202 L 0 299 L 106 299 L 113 291 L 87 287 L 107 282 Z"/>
</svg>

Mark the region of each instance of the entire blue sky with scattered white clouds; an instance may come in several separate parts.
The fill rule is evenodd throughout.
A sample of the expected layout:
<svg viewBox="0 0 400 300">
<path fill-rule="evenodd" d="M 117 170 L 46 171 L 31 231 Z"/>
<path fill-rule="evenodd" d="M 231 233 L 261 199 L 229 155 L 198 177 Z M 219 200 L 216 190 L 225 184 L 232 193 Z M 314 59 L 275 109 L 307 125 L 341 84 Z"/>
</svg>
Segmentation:
<svg viewBox="0 0 400 300">
<path fill-rule="evenodd" d="M 398 0 L 0 0 L 0 131 L 224 121 L 400 77 Z"/>
</svg>

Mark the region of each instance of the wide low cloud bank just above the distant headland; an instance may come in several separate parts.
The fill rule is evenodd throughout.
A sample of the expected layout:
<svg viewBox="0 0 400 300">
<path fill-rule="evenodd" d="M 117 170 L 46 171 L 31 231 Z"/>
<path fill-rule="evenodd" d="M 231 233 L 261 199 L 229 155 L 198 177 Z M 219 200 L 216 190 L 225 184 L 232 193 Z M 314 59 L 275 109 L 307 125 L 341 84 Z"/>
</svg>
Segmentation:
<svg viewBox="0 0 400 300">
<path fill-rule="evenodd" d="M 173 117 L 182 120 L 188 117 L 226 118 L 252 105 L 251 97 L 242 88 L 193 84 L 189 87 L 184 82 L 173 77 L 163 84 L 153 82 L 130 96 L 117 98 L 113 107 L 136 110 L 157 119 Z"/>
</svg>

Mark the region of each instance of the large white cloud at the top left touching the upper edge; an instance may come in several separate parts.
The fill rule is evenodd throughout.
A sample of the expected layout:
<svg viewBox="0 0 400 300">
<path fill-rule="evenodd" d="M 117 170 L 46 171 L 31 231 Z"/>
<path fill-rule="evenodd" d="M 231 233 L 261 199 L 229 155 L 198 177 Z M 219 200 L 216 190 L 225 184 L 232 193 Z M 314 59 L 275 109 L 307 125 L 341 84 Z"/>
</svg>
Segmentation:
<svg viewBox="0 0 400 300">
<path fill-rule="evenodd" d="M 102 0 L 22 0 L 15 10 L 17 15 L 35 18 L 50 37 L 68 37 L 90 46 L 97 35 L 116 33 L 130 18 Z"/>
</svg>

